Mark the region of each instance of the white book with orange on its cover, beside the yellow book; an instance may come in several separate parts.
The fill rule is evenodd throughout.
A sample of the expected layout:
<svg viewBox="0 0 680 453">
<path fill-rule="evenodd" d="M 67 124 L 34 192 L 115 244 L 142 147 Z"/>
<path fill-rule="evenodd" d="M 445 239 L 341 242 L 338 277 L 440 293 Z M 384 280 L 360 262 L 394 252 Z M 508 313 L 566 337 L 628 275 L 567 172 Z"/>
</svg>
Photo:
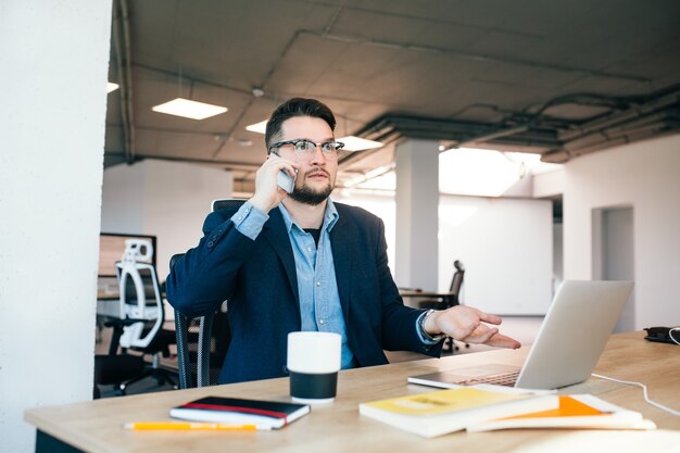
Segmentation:
<svg viewBox="0 0 680 453">
<path fill-rule="evenodd" d="M 469 432 L 512 428 L 654 429 L 642 414 L 608 403 L 592 394 L 561 395 L 559 407 L 525 415 L 482 421 Z"/>
</svg>

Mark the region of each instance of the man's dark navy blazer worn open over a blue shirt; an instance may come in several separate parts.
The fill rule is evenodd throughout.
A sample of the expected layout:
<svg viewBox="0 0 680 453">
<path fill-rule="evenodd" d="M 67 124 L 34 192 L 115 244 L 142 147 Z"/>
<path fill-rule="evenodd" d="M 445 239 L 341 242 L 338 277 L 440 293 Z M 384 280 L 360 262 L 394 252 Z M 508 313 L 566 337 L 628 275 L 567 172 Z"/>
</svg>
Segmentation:
<svg viewBox="0 0 680 453">
<path fill-rule="evenodd" d="M 390 274 L 380 218 L 336 203 L 339 218 L 330 231 L 348 343 L 358 366 L 387 364 L 386 350 L 439 356 L 441 342 L 419 340 L 423 312 L 403 304 Z M 204 237 L 175 263 L 167 277 L 167 300 L 190 316 L 211 313 L 228 300 L 231 342 L 219 382 L 282 377 L 287 336 L 300 330 L 298 279 L 292 247 L 278 209 L 253 241 L 230 217 L 236 209 L 211 213 Z"/>
</svg>

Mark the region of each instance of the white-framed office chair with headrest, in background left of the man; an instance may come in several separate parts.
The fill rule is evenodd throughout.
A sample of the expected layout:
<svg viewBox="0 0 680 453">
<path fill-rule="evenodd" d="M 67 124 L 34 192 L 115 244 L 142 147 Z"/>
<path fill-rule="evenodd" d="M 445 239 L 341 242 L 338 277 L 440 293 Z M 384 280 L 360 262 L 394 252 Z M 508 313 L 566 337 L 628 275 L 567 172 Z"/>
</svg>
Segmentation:
<svg viewBox="0 0 680 453">
<path fill-rule="evenodd" d="M 144 263 L 151 259 L 153 248 L 150 241 L 143 239 L 128 239 L 125 242 L 123 260 L 116 263 L 121 319 L 110 323 L 114 327 L 114 335 L 119 334 L 118 343 L 123 354 L 129 349 L 142 355 L 151 355 L 152 362 L 136 377 L 122 382 L 118 390 L 125 392 L 127 386 L 146 377 L 153 377 L 160 386 L 169 382 L 177 388 L 176 374 L 160 366 L 161 355 L 171 355 L 169 345 L 175 343 L 175 334 L 163 329 L 165 310 L 159 278 L 155 267 Z"/>
</svg>

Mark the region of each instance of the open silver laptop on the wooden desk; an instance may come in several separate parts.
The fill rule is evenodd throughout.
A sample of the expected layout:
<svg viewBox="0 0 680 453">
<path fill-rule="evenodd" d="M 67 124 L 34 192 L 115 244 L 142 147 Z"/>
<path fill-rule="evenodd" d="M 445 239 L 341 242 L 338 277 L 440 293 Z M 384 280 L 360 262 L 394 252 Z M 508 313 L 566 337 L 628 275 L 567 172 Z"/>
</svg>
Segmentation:
<svg viewBox="0 0 680 453">
<path fill-rule="evenodd" d="M 439 388 L 496 383 L 553 390 L 590 377 L 633 288 L 632 281 L 565 280 L 521 368 L 488 364 L 412 376 Z"/>
</svg>

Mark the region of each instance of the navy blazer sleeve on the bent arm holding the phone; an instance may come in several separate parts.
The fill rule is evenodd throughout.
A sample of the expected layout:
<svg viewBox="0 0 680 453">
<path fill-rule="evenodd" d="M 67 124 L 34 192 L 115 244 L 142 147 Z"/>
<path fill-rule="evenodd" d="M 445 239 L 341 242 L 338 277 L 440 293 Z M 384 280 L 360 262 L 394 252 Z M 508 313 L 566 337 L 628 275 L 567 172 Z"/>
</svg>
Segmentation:
<svg viewBox="0 0 680 453">
<path fill-rule="evenodd" d="M 211 213 L 199 244 L 171 269 L 166 295 L 178 312 L 192 317 L 210 314 L 234 293 L 239 269 L 255 241 L 236 228 L 232 214 L 231 210 Z"/>
</svg>

